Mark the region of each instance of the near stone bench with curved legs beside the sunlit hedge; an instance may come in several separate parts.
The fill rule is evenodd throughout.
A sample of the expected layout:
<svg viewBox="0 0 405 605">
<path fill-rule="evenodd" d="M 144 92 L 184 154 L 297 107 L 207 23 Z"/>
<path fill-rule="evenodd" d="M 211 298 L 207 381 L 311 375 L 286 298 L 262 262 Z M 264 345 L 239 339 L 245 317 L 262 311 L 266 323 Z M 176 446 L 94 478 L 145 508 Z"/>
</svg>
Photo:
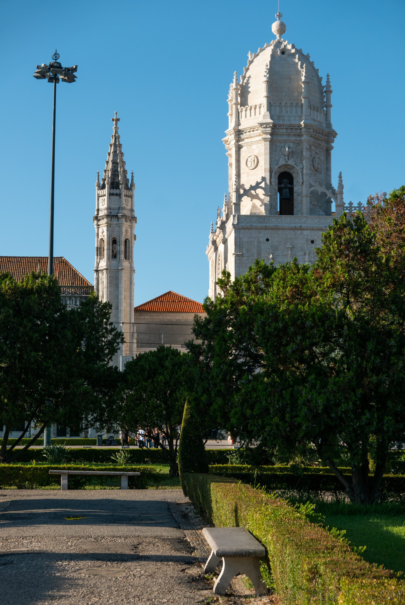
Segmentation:
<svg viewBox="0 0 405 605">
<path fill-rule="evenodd" d="M 265 547 L 245 528 L 204 528 L 203 536 L 212 549 L 204 571 L 214 572 L 222 558 L 222 571 L 214 584 L 214 594 L 225 595 L 229 582 L 237 574 L 248 576 L 255 594 L 265 592 L 259 564 L 260 557 L 265 556 Z"/>
</svg>

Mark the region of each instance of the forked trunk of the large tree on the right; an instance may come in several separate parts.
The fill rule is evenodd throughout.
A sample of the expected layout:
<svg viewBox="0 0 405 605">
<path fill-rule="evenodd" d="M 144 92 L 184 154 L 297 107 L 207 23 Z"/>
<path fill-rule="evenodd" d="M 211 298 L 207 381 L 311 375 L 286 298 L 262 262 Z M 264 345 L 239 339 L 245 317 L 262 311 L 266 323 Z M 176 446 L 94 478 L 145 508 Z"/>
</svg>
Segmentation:
<svg viewBox="0 0 405 605">
<path fill-rule="evenodd" d="M 353 504 L 367 505 L 374 504 L 381 497 L 381 481 L 383 480 L 386 459 L 375 467 L 374 477 L 369 477 L 369 462 L 361 463 L 352 467 L 352 477 L 341 473 L 332 460 L 325 460 L 337 478 L 343 483 L 346 493 Z"/>
</svg>

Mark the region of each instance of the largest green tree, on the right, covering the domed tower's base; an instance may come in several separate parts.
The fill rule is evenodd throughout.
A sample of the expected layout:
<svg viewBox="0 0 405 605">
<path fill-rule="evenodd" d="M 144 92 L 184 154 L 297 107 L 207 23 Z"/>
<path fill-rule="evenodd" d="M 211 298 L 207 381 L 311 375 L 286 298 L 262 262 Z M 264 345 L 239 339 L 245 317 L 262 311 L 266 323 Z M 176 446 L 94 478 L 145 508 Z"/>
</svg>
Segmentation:
<svg viewBox="0 0 405 605">
<path fill-rule="evenodd" d="M 234 283 L 224 274 L 191 347 L 234 434 L 287 452 L 312 443 L 357 503 L 378 501 L 405 437 L 404 190 L 369 201 L 368 222 L 334 220 L 314 266 L 257 261 Z"/>
</svg>

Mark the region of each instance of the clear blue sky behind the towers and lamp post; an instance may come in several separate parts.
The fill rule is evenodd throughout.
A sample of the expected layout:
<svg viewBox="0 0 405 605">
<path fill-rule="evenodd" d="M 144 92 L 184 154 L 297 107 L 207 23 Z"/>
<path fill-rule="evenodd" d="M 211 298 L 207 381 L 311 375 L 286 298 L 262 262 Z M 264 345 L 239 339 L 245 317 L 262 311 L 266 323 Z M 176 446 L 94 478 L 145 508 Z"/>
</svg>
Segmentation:
<svg viewBox="0 0 405 605">
<path fill-rule="evenodd" d="M 48 254 L 51 60 L 78 64 L 58 85 L 54 255 L 91 283 L 96 171 L 120 117 L 136 180 L 135 303 L 208 292 L 209 225 L 222 206 L 232 73 L 271 41 L 277 0 L 3 2 L 0 255 Z M 283 38 L 331 74 L 332 152 L 344 200 L 405 183 L 403 0 L 282 0 Z"/>
</svg>

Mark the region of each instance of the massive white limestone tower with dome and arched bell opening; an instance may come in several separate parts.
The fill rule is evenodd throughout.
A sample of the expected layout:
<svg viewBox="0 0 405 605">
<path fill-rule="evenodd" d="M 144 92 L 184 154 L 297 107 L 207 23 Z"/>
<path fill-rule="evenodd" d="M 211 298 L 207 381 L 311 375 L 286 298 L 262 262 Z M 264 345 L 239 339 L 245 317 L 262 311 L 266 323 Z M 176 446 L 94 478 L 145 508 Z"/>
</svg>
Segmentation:
<svg viewBox="0 0 405 605">
<path fill-rule="evenodd" d="M 314 263 L 315 247 L 335 215 L 344 211 L 341 174 L 332 186 L 332 88 L 309 54 L 282 39 L 282 14 L 272 25 L 276 39 L 248 54 L 228 96 L 228 195 L 218 208 L 209 244 L 209 292 L 218 293 L 223 269 L 243 275 L 255 259 L 283 264 Z"/>
</svg>

